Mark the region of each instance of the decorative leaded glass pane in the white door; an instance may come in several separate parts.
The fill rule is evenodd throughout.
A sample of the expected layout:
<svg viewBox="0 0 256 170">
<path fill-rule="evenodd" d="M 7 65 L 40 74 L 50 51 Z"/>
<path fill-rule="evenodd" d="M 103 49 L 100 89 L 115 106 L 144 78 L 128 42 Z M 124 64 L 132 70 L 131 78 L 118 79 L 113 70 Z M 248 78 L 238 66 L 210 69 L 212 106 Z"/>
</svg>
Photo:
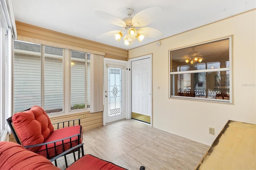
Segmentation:
<svg viewBox="0 0 256 170">
<path fill-rule="evenodd" d="M 122 69 L 108 68 L 108 116 L 122 114 Z"/>
</svg>

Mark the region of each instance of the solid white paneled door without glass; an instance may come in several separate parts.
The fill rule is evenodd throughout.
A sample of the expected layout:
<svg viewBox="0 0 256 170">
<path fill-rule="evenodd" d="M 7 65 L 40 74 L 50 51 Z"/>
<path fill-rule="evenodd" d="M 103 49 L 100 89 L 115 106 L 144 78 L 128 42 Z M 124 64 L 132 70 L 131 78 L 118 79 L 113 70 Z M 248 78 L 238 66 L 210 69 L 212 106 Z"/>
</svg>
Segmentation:
<svg viewBox="0 0 256 170">
<path fill-rule="evenodd" d="M 132 112 L 151 117 L 151 55 L 131 64 Z"/>
</svg>

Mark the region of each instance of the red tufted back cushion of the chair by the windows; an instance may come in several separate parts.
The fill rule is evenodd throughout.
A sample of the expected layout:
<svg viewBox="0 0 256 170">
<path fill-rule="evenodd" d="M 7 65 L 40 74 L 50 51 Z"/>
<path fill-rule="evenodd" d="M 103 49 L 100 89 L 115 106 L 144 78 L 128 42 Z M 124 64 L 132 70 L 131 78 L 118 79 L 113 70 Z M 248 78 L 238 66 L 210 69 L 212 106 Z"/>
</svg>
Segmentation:
<svg viewBox="0 0 256 170">
<path fill-rule="evenodd" d="M 23 146 L 43 143 L 54 130 L 50 118 L 39 106 L 15 113 L 12 116 L 12 124 Z M 28 148 L 33 152 L 37 149 Z"/>
</svg>

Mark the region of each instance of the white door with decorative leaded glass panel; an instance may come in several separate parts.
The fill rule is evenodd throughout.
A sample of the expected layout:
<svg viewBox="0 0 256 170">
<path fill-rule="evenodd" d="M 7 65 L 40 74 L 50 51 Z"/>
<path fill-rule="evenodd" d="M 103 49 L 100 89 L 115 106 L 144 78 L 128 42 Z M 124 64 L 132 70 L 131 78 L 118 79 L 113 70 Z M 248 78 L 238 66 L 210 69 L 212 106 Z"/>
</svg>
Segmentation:
<svg viewBox="0 0 256 170">
<path fill-rule="evenodd" d="M 104 59 L 103 125 L 125 119 L 126 61 Z"/>
</svg>

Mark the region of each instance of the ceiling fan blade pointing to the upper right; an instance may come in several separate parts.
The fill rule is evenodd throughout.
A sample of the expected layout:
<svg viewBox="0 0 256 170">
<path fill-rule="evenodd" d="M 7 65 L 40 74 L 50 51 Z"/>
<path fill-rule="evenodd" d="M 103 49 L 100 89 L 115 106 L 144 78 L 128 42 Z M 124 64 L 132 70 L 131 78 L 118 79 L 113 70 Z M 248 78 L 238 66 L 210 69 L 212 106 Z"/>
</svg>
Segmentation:
<svg viewBox="0 0 256 170">
<path fill-rule="evenodd" d="M 136 27 L 143 27 L 153 22 L 160 14 L 162 9 L 158 6 L 153 6 L 140 11 L 132 18 L 132 24 Z"/>
</svg>

